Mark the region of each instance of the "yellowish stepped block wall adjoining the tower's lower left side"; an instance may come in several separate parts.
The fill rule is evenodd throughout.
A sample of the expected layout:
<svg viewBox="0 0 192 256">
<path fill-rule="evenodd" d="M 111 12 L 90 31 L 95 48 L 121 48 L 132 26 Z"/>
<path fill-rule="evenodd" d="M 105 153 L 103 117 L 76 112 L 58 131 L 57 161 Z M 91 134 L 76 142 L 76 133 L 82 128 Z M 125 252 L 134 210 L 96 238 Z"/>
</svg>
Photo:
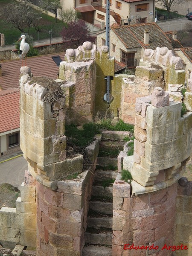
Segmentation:
<svg viewBox="0 0 192 256">
<path fill-rule="evenodd" d="M 36 247 L 36 189 L 24 183 L 19 189 L 16 208 L 0 209 L 0 243 L 9 248 L 16 244 Z"/>
</svg>

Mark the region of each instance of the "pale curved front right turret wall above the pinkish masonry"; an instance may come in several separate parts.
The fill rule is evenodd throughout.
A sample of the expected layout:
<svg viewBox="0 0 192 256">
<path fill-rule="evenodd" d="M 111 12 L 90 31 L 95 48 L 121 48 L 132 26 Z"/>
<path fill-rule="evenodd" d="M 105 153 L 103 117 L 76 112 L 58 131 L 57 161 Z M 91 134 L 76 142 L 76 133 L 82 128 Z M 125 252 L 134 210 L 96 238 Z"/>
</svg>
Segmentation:
<svg viewBox="0 0 192 256">
<path fill-rule="evenodd" d="M 192 113 L 181 117 L 181 103 L 170 102 L 169 106 L 155 108 L 149 100 L 136 100 L 134 157 L 123 160 L 124 168 L 141 185 L 132 183 L 136 194 L 171 186 L 183 175 L 192 154 Z"/>
</svg>

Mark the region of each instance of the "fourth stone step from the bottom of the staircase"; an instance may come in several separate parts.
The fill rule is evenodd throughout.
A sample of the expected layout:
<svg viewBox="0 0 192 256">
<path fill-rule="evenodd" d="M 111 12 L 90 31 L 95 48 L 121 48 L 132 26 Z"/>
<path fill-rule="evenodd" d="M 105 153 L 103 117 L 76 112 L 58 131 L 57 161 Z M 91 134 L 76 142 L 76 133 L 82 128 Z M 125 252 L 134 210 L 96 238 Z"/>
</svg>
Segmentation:
<svg viewBox="0 0 192 256">
<path fill-rule="evenodd" d="M 112 202 L 101 202 L 101 201 L 90 201 L 89 209 L 99 212 L 102 214 L 113 215 L 113 203 Z"/>
</svg>

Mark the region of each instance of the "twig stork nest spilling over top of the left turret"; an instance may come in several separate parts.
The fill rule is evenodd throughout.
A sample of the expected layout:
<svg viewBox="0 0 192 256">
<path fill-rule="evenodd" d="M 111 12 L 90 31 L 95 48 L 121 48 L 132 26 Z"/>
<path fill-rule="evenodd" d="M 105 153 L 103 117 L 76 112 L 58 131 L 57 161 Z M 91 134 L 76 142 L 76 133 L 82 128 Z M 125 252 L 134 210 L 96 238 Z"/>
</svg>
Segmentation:
<svg viewBox="0 0 192 256">
<path fill-rule="evenodd" d="M 53 79 L 37 76 L 32 77 L 32 80 L 30 81 L 30 84 L 34 83 L 40 84 L 47 89 L 47 93 L 42 99 L 43 102 L 51 102 L 51 104 L 54 104 L 54 102 L 57 102 L 59 98 L 65 97 L 63 91 L 61 90 L 61 84 L 63 84 L 63 82 L 57 83 Z"/>
</svg>

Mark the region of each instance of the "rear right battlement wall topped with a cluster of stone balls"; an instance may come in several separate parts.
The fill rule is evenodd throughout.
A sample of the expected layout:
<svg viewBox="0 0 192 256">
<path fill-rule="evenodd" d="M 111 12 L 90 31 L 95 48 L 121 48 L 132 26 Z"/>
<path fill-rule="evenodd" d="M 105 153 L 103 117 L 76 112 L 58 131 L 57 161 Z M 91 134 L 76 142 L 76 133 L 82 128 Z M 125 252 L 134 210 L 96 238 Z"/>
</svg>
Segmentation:
<svg viewBox="0 0 192 256">
<path fill-rule="evenodd" d="M 125 122 L 134 124 L 136 98 L 150 95 L 155 87 L 172 91 L 170 97 L 175 101 L 181 101 L 182 95 L 177 89 L 183 86 L 184 82 L 183 62 L 172 50 L 167 47 L 157 47 L 156 50 L 146 49 L 143 59 L 136 67 L 135 76 L 124 75 L 119 116 Z M 169 84 L 177 89 L 171 89 Z"/>
</svg>

